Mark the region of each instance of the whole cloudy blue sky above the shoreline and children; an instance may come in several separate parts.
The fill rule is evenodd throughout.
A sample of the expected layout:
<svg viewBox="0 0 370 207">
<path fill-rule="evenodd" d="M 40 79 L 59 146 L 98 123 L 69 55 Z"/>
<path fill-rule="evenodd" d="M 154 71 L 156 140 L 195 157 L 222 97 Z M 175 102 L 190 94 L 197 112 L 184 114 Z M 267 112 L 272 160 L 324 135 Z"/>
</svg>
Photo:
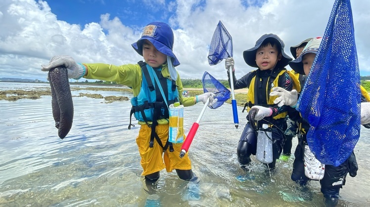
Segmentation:
<svg viewBox="0 0 370 207">
<path fill-rule="evenodd" d="M 174 30 L 182 78 L 208 71 L 226 79 L 224 62 L 209 66 L 212 35 L 221 20 L 232 36 L 236 77 L 253 70 L 244 50 L 263 34 L 289 47 L 323 36 L 334 0 L 0 0 L 0 77 L 46 80 L 41 65 L 54 55 L 79 63 L 124 65 L 142 60 L 131 44 L 149 22 Z M 353 0 L 361 75 L 370 75 L 370 1 Z"/>
</svg>

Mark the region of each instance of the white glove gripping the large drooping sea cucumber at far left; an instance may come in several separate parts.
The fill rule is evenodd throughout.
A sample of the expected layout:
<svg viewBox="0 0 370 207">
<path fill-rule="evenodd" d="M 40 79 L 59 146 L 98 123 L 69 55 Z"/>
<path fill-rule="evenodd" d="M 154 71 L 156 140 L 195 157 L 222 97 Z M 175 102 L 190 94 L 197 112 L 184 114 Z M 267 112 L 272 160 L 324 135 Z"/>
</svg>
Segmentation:
<svg viewBox="0 0 370 207">
<path fill-rule="evenodd" d="M 41 70 L 49 71 L 50 69 L 58 66 L 65 66 L 68 71 L 68 78 L 73 78 L 76 80 L 84 76 L 86 72 L 85 66 L 77 64 L 71 56 L 67 55 L 57 55 L 52 57 L 49 61 L 49 64 L 41 65 Z"/>
</svg>

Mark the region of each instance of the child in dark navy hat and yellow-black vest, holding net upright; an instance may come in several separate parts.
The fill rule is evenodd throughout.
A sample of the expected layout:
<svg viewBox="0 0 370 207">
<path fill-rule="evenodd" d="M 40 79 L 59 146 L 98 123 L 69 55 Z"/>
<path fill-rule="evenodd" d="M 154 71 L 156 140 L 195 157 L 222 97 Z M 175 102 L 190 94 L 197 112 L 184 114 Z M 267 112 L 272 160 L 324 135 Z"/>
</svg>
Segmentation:
<svg viewBox="0 0 370 207">
<path fill-rule="evenodd" d="M 257 136 L 256 131 L 263 124 L 267 124 L 272 131 L 273 161 L 268 163 L 270 169 L 275 169 L 276 160 L 279 158 L 284 143 L 284 131 L 286 129 L 285 115 L 287 107 L 278 107 L 274 104 L 275 97 L 270 96 L 272 88 L 279 86 L 287 91 L 293 88 L 292 79 L 284 68 L 292 60 L 284 52 L 284 42 L 274 34 L 262 35 L 254 47 L 243 52 L 244 61 L 247 65 L 257 68 L 242 78 L 236 80 L 234 69 L 232 78 L 234 89 L 248 88 L 245 108 L 249 112 L 252 108 L 258 109 L 253 120 L 247 116 L 247 124 L 240 136 L 237 146 L 237 157 L 241 165 L 251 162 L 250 155 L 256 155 Z M 233 58 L 225 61 L 226 69 L 234 65 Z M 229 84 L 230 74 L 228 73 Z M 253 123 L 252 123 L 253 122 Z M 257 128 L 252 127 L 256 125 Z"/>
</svg>

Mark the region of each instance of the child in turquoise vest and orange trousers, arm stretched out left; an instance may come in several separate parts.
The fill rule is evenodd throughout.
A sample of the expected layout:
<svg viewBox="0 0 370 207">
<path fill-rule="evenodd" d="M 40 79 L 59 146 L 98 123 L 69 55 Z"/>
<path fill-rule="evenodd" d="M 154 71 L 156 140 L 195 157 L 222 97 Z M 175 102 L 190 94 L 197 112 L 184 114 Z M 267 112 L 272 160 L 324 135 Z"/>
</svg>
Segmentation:
<svg viewBox="0 0 370 207">
<path fill-rule="evenodd" d="M 173 53 L 174 33 L 170 26 L 163 22 L 147 24 L 139 40 L 132 44 L 145 62 L 113 66 L 109 64 L 76 63 L 70 56 L 54 56 L 42 70 L 64 65 L 68 77 L 80 79 L 99 79 L 115 81 L 133 89 L 131 115 L 139 121 L 140 130 L 136 141 L 141 156 L 142 175 L 148 184 L 156 183 L 160 171 L 176 170 L 183 180 L 196 180 L 191 171 L 191 162 L 187 154 L 180 158 L 182 143 L 168 141 L 169 112 L 168 106 L 180 102 L 184 106 L 206 103 L 210 106 L 215 101 L 213 93 L 204 93 L 195 97 L 183 97 L 183 84 L 175 67 L 180 65 Z M 157 84 L 156 78 L 160 84 Z M 162 91 L 162 92 L 161 92 Z M 131 124 L 130 115 L 130 125 Z M 162 158 L 163 156 L 163 158 Z"/>
</svg>

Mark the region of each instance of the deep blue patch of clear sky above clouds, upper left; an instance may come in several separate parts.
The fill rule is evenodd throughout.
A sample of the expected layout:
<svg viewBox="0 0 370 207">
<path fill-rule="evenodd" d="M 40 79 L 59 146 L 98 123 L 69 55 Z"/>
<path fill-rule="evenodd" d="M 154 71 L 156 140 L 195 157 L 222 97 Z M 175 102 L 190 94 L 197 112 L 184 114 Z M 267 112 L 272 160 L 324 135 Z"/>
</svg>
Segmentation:
<svg viewBox="0 0 370 207">
<path fill-rule="evenodd" d="M 170 3 L 168 0 L 163 2 L 167 5 Z M 168 22 L 172 14 L 168 9 L 164 12 L 162 3 L 155 6 L 149 1 L 138 0 L 47 0 L 47 3 L 58 20 L 79 25 L 99 22 L 100 15 L 105 13 L 118 17 L 125 25 L 146 25 L 148 21 Z"/>
</svg>

